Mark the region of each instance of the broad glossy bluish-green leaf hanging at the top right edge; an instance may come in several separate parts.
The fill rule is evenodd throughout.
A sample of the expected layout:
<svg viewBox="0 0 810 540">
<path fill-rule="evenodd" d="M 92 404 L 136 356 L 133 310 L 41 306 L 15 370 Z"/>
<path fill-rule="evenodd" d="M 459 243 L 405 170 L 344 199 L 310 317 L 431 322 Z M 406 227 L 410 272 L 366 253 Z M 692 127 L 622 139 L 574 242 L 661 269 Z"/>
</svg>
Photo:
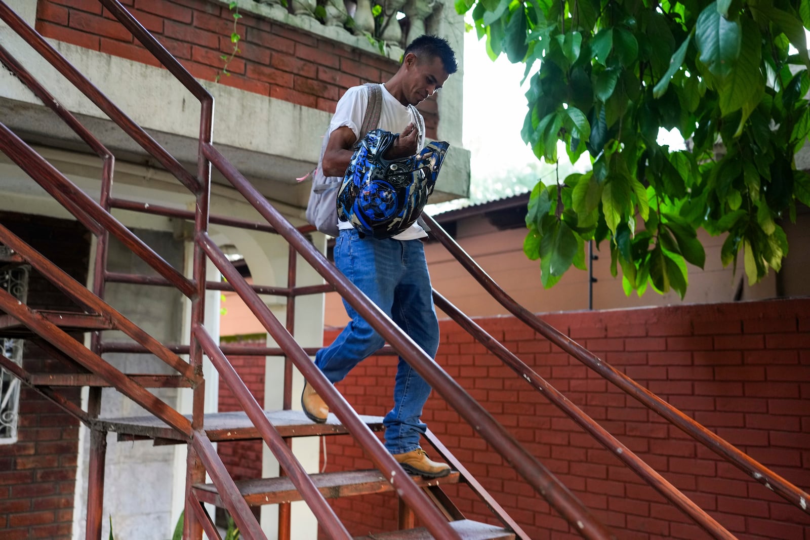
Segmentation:
<svg viewBox="0 0 810 540">
<path fill-rule="evenodd" d="M 716 2 L 706 6 L 697 17 L 695 44 L 700 61 L 718 83 L 723 83 L 734 71 L 742 40 L 740 23 L 720 15 Z"/>
</svg>

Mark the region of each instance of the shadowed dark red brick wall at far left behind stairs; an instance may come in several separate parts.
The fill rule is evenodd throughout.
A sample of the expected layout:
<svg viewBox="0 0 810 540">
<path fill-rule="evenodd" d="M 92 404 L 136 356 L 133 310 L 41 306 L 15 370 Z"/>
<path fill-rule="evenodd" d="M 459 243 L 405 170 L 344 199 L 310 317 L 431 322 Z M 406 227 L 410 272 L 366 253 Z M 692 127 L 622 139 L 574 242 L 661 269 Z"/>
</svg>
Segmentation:
<svg viewBox="0 0 810 540">
<path fill-rule="evenodd" d="M 0 223 L 80 283 L 86 281 L 90 244 L 83 227 L 75 222 L 6 212 L 0 212 Z M 32 271 L 28 283 L 32 308 L 78 310 L 36 272 Z M 32 373 L 70 371 L 32 342 L 25 343 L 23 368 Z M 78 389 L 62 394 L 79 402 Z M 73 523 L 79 422 L 39 393 L 23 387 L 18 427 L 18 441 L 0 445 L 0 538 L 68 540 Z"/>
</svg>

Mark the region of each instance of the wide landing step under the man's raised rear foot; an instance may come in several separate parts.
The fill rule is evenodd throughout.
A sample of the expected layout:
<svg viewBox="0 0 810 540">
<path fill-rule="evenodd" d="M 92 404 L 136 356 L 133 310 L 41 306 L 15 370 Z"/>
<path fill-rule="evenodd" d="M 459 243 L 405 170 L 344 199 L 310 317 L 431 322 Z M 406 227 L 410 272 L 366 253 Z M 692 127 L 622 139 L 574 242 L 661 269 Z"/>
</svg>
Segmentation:
<svg viewBox="0 0 810 540">
<path fill-rule="evenodd" d="M 326 419 L 326 423 L 314 423 L 301 410 L 266 410 L 265 415 L 284 437 L 347 433 L 346 427 L 343 427 L 343 424 L 331 413 Z M 191 419 L 191 416 L 186 415 L 185 418 Z M 382 416 L 360 415 L 360 419 L 374 432 L 380 432 L 383 429 Z M 184 441 L 179 433 L 155 416 L 98 419 L 96 425 L 100 429 L 122 435 Z M 260 438 L 258 430 L 243 411 L 207 413 L 203 419 L 203 430 L 212 441 Z"/>
</svg>

